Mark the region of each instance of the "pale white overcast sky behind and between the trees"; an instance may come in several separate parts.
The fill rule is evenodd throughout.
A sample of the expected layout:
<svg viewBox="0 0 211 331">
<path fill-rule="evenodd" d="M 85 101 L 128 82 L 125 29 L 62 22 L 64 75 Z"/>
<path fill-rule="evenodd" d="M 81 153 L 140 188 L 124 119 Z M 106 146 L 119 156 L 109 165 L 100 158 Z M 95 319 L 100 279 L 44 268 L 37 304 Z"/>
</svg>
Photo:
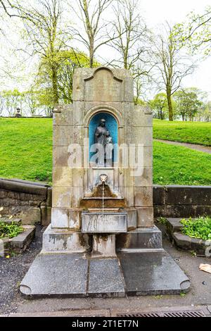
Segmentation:
<svg viewBox="0 0 211 331">
<path fill-rule="evenodd" d="M 147 26 L 155 30 L 155 32 L 156 29 L 159 28 L 162 23 L 165 23 L 166 20 L 171 25 L 182 22 L 186 19 L 186 15 L 191 11 L 203 13 L 205 7 L 209 5 L 211 5 L 211 0 L 140 0 L 142 16 L 145 19 Z M 11 32 L 10 37 L 13 39 L 13 44 L 19 43 L 15 30 Z M 1 52 L 4 52 L 4 47 L 5 41 L 3 41 Z M 14 66 L 17 67 L 20 65 L 17 54 L 11 54 L 8 58 L 12 59 Z M 33 62 L 25 62 L 25 59 L 23 60 L 23 63 L 27 63 L 26 68 L 22 68 L 23 63 L 20 65 L 20 68 L 22 68 L 21 70 L 25 73 L 25 78 L 27 78 L 31 76 L 30 72 L 33 71 Z M 30 82 L 27 82 L 27 79 L 23 82 L 20 77 L 20 81 L 18 82 L 18 87 L 20 90 L 27 89 L 29 84 Z M 7 82 L 1 82 L 1 89 L 2 85 L 4 86 L 3 88 L 12 89 L 14 86 L 17 87 L 17 82 L 13 82 L 12 80 L 11 82 L 9 80 L 7 80 Z M 206 91 L 208 93 L 208 99 L 211 100 L 211 56 L 205 61 L 200 61 L 198 68 L 192 75 L 184 78 L 182 85 L 184 87 L 198 87 L 199 89 Z"/>
</svg>

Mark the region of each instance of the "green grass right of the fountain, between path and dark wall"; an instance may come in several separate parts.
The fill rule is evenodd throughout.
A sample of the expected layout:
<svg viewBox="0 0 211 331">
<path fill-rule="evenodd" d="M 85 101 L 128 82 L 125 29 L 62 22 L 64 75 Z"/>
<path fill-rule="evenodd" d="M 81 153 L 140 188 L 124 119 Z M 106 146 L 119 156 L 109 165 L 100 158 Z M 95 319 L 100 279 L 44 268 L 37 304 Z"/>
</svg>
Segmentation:
<svg viewBox="0 0 211 331">
<path fill-rule="evenodd" d="M 153 182 L 160 185 L 211 185 L 211 154 L 154 142 Z"/>
</svg>

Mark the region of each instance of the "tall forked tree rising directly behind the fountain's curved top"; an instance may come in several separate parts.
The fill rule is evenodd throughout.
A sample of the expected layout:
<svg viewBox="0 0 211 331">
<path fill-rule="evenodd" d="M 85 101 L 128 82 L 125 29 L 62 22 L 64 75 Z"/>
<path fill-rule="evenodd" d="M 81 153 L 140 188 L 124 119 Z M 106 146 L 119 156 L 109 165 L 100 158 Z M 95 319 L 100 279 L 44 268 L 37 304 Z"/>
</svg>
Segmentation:
<svg viewBox="0 0 211 331">
<path fill-rule="evenodd" d="M 74 0 L 71 8 L 82 26 L 73 28 L 76 40 L 82 42 L 89 52 L 89 66 L 94 66 L 94 56 L 99 47 L 108 44 L 116 38 L 115 32 L 108 37 L 107 29 L 110 23 L 103 19 L 106 10 L 113 0 Z M 77 8 L 75 8 L 77 3 Z"/>
</svg>

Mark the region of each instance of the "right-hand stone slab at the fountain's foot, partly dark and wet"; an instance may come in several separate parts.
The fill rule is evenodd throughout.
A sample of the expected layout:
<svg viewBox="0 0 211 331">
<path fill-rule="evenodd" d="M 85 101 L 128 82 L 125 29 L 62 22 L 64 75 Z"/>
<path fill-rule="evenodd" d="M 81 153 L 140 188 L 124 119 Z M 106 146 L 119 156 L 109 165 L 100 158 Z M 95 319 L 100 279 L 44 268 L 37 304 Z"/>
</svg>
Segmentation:
<svg viewBox="0 0 211 331">
<path fill-rule="evenodd" d="M 128 295 L 187 292 L 190 281 L 166 251 L 119 253 Z"/>
</svg>

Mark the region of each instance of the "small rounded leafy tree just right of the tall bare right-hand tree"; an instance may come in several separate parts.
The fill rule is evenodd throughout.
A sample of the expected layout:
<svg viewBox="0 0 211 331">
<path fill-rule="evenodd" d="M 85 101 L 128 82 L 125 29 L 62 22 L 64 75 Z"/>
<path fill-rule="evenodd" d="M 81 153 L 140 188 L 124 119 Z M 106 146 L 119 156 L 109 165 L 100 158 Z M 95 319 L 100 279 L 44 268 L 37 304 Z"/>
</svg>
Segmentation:
<svg viewBox="0 0 211 331">
<path fill-rule="evenodd" d="M 177 111 L 182 120 L 193 120 L 200 108 L 203 107 L 203 101 L 198 99 L 197 89 L 181 89 L 174 94 Z"/>
</svg>

